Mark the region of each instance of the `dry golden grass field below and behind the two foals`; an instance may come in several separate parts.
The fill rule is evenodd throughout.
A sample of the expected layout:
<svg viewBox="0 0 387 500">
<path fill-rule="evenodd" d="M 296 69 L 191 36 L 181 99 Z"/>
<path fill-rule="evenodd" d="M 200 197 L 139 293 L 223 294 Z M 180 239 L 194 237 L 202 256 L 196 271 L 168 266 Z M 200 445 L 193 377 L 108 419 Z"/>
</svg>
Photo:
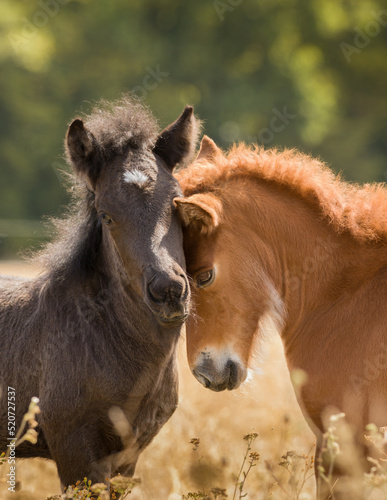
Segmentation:
<svg viewBox="0 0 387 500">
<path fill-rule="evenodd" d="M 36 272 L 24 263 L 0 262 L 1 274 L 32 276 Z M 185 360 L 184 339 L 179 365 L 179 408 L 142 454 L 135 474 L 141 485 L 127 498 L 181 500 L 189 492 L 209 494 L 211 488 L 219 487 L 225 488 L 227 498 L 232 499 L 246 452 L 243 436 L 250 433 L 258 433 L 252 451 L 260 456 L 247 476 L 243 488 L 246 498 L 314 498 L 313 477 L 306 481 L 299 496 L 288 497 L 281 489 L 291 491 L 292 478 L 278 465 L 283 461 L 281 456 L 291 450 L 299 455 L 313 454 L 314 438 L 296 403 L 279 341 L 268 346 L 259 373 L 234 392 L 214 393 L 194 379 Z M 192 438 L 200 440 L 197 451 L 190 444 Z M 303 465 L 305 459 L 300 463 Z M 297 474 L 300 476 L 301 470 Z M 41 500 L 60 493 L 55 464 L 49 461 L 19 462 L 17 480 L 17 493 L 8 493 L 1 485 L 2 500 Z M 240 498 L 239 492 L 235 498 Z"/>
</svg>

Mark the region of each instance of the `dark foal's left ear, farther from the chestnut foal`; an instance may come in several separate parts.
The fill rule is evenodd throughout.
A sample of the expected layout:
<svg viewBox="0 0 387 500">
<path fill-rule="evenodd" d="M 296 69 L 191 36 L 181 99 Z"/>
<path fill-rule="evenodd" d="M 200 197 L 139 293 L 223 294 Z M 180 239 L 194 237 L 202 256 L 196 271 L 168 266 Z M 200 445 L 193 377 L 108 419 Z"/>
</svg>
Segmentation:
<svg viewBox="0 0 387 500">
<path fill-rule="evenodd" d="M 75 119 L 70 125 L 65 147 L 67 157 L 73 164 L 76 173 L 93 187 L 97 177 L 97 169 L 92 168 L 95 140 L 81 119 Z"/>
</svg>

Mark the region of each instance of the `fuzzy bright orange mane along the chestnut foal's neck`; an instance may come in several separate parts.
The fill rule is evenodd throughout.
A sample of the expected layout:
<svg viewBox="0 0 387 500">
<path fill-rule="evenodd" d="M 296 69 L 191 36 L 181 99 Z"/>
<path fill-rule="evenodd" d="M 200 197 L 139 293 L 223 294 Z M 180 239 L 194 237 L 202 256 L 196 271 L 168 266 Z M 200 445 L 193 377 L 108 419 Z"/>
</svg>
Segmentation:
<svg viewBox="0 0 387 500">
<path fill-rule="evenodd" d="M 387 189 L 384 184 L 349 184 L 321 161 L 295 150 L 279 152 L 235 145 L 214 160 L 198 160 L 178 173 L 184 195 L 218 191 L 227 180 L 247 176 L 288 187 L 317 206 L 338 232 L 356 239 L 387 242 Z"/>
</svg>

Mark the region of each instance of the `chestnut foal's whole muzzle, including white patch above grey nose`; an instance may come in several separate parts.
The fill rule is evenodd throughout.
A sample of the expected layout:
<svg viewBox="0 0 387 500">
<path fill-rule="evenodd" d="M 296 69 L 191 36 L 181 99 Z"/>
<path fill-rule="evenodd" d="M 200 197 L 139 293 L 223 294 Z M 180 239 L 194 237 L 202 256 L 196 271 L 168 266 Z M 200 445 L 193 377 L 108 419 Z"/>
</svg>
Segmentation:
<svg viewBox="0 0 387 500">
<path fill-rule="evenodd" d="M 196 358 L 192 373 L 206 388 L 215 392 L 237 389 L 247 378 L 247 369 L 236 354 L 206 349 Z"/>
</svg>

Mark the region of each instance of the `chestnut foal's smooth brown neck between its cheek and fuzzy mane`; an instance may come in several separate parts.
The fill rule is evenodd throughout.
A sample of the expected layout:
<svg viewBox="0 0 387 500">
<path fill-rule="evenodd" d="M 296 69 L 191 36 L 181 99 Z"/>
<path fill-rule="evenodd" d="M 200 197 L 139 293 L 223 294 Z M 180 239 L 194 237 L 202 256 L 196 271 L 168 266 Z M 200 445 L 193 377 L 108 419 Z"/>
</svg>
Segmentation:
<svg viewBox="0 0 387 500">
<path fill-rule="evenodd" d="M 342 300 L 387 265 L 384 247 L 338 233 L 317 202 L 286 187 L 251 181 L 248 190 L 239 186 L 234 193 L 246 234 L 250 231 L 271 249 L 267 269 L 284 303 L 283 336 L 291 335 L 312 311 Z"/>
</svg>

